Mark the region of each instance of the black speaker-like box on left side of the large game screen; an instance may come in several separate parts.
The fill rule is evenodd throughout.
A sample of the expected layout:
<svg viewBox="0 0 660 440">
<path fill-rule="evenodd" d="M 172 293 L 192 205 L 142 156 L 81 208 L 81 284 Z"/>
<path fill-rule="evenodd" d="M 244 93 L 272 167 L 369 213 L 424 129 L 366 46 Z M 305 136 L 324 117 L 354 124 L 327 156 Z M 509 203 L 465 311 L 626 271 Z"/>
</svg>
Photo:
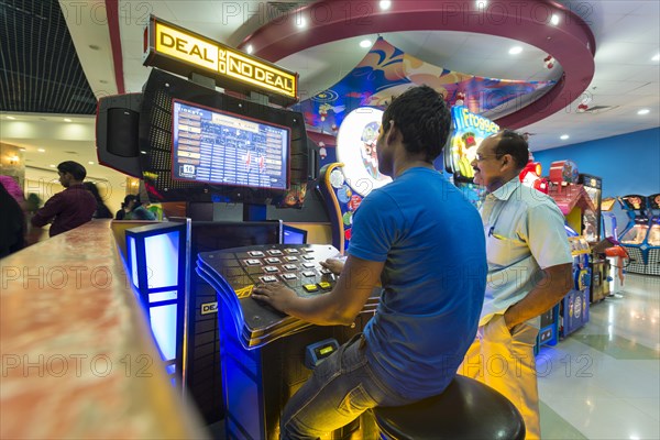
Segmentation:
<svg viewBox="0 0 660 440">
<path fill-rule="evenodd" d="M 140 105 L 142 94 L 99 99 L 96 138 L 99 164 L 142 178 L 140 166 Z"/>
</svg>

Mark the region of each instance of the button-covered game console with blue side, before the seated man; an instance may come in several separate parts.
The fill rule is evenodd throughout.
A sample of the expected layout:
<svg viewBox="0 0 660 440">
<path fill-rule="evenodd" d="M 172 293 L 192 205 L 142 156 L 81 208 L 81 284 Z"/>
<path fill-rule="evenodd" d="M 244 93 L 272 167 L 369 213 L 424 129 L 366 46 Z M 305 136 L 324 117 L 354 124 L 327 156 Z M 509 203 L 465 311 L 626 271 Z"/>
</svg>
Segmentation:
<svg viewBox="0 0 660 440">
<path fill-rule="evenodd" d="M 217 292 L 220 320 L 222 387 L 228 439 L 279 438 L 286 402 L 332 354 L 373 317 L 375 289 L 353 326 L 314 326 L 251 298 L 254 285 L 279 282 L 299 296 L 323 295 L 334 276 L 320 262 L 337 255 L 331 245 L 280 244 L 200 253 L 197 273 Z M 375 438 L 364 418 L 338 429 L 332 439 Z M 360 432 L 361 431 L 361 432 Z"/>
</svg>

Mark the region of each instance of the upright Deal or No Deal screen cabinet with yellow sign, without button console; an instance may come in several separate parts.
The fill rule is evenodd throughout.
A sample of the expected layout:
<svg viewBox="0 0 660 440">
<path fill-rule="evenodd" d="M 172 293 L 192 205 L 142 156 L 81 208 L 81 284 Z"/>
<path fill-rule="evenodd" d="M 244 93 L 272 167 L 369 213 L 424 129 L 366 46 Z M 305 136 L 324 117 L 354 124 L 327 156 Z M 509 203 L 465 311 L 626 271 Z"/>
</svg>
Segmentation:
<svg viewBox="0 0 660 440">
<path fill-rule="evenodd" d="M 158 46 L 157 42 L 174 41 L 173 35 L 177 35 L 176 47 Z M 163 283 L 156 286 L 148 280 L 153 277 L 150 270 L 162 265 L 158 260 L 165 255 L 164 251 L 151 252 L 151 257 L 145 256 L 147 252 L 140 252 L 142 256 L 138 257 L 139 246 L 131 248 L 135 252 L 130 252 L 127 272 L 135 278 L 142 274 L 141 283 L 134 282 L 134 285 L 146 289 L 139 292 L 139 297 L 144 301 L 147 317 L 147 309 L 153 306 L 147 302 L 152 299 L 167 302 L 163 306 L 175 306 L 167 310 L 176 311 L 161 312 L 167 319 L 160 320 L 157 328 L 152 326 L 152 331 L 154 334 L 168 333 L 156 339 L 168 343 L 167 350 L 161 350 L 168 353 L 166 361 L 173 383 L 182 394 L 193 398 L 206 421 L 211 424 L 224 415 L 233 419 L 237 411 L 240 417 L 258 418 L 255 413 L 258 405 L 254 402 L 244 404 L 237 397 L 241 395 L 239 385 L 234 386 L 231 380 L 228 382 L 234 373 L 232 367 L 226 367 L 226 364 L 232 364 L 223 358 L 227 354 L 223 340 L 227 339 L 229 344 L 231 338 L 237 338 L 233 334 L 237 327 L 227 320 L 219 322 L 223 299 L 213 286 L 197 275 L 195 261 L 199 252 L 282 243 L 282 221 L 266 221 L 266 206 L 289 208 L 302 202 L 304 197 L 289 196 L 300 195 L 300 188 L 307 187 L 308 143 L 302 116 L 272 107 L 267 101 L 279 106 L 295 102 L 297 74 L 154 16 L 150 19 L 145 38 L 145 64 L 155 68 L 143 91 L 99 101 L 99 163 L 143 179 L 153 201 L 241 205 L 243 221 L 187 219 L 183 223 L 162 223 L 160 231 L 154 227 L 148 227 L 148 231 L 132 230 L 131 240 L 135 243 L 150 243 L 157 234 L 178 234 L 178 239 L 185 238 L 185 241 L 169 240 L 158 248 L 167 251 L 167 255 L 174 253 L 178 257 L 180 271 L 177 271 L 176 286 Z M 182 55 L 175 51 L 179 45 L 205 47 L 205 53 L 212 48 L 223 54 L 227 64 L 190 62 L 190 54 Z M 210 61 L 205 58 L 205 62 Z M 242 77 L 257 70 L 268 74 L 260 77 L 276 78 L 276 81 L 262 84 L 255 78 Z M 219 92 L 216 86 L 235 94 Z M 251 96 L 251 99 L 238 98 L 237 94 Z M 186 227 L 180 229 L 170 223 Z M 147 244 L 140 246 L 148 248 Z M 133 253 L 135 257 L 132 257 Z M 346 338 L 340 336 L 338 341 L 344 342 Z M 298 349 L 304 354 L 305 346 Z M 174 359 L 172 353 L 175 353 Z M 290 367 L 299 370 L 301 362 Z M 283 374 L 293 373 L 286 371 Z M 284 382 L 282 375 L 276 378 Z M 268 408 L 273 414 L 279 414 L 280 409 L 282 406 Z M 237 438 L 232 436 L 228 438 Z"/>
</svg>

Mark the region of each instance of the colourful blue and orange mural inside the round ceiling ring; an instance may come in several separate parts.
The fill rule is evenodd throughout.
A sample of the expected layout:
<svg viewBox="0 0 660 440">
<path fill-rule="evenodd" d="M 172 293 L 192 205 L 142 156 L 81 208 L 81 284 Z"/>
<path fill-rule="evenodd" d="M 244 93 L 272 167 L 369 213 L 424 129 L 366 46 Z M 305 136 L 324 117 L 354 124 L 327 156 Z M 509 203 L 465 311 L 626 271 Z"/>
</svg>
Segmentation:
<svg viewBox="0 0 660 440">
<path fill-rule="evenodd" d="M 556 81 L 493 79 L 425 63 L 380 37 L 366 56 L 334 86 L 294 107 L 305 122 L 322 133 L 337 135 L 341 122 L 359 107 L 384 109 L 393 97 L 413 85 L 426 84 L 453 105 L 461 95 L 472 113 L 481 114 Z"/>
</svg>

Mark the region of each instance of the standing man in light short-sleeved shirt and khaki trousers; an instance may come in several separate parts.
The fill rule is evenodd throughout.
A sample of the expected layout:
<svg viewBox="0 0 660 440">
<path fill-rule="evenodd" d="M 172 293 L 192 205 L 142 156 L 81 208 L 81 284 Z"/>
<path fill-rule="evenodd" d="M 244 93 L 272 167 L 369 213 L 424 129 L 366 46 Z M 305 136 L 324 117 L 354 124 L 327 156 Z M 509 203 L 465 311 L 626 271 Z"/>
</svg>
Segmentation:
<svg viewBox="0 0 660 440">
<path fill-rule="evenodd" d="M 505 130 L 486 138 L 471 164 L 474 183 L 487 191 L 480 213 L 488 283 L 476 339 L 459 373 L 506 396 L 525 419 L 527 439 L 539 439 L 539 317 L 573 285 L 573 258 L 554 200 L 520 183 L 528 150 L 520 134 Z"/>
</svg>

